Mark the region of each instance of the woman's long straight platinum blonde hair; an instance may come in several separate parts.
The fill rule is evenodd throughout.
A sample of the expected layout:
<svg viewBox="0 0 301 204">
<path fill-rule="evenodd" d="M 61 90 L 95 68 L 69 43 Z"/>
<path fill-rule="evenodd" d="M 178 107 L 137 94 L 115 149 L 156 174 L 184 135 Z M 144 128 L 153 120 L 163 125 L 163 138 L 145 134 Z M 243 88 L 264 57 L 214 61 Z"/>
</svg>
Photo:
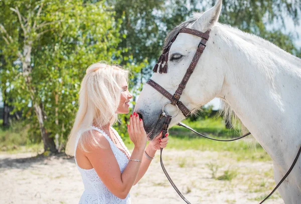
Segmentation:
<svg viewBox="0 0 301 204">
<path fill-rule="evenodd" d="M 118 65 L 97 62 L 87 68 L 79 90 L 79 108 L 66 144 L 67 154 L 74 155 L 77 136 L 91 130 L 92 124 L 103 127 L 116 122 L 122 77 L 127 81 L 128 71 Z M 89 138 L 85 138 L 87 135 Z M 89 145 L 100 145 L 93 134 L 83 134 L 78 145 L 84 151 L 87 151 L 84 141 L 89 141 Z"/>
</svg>

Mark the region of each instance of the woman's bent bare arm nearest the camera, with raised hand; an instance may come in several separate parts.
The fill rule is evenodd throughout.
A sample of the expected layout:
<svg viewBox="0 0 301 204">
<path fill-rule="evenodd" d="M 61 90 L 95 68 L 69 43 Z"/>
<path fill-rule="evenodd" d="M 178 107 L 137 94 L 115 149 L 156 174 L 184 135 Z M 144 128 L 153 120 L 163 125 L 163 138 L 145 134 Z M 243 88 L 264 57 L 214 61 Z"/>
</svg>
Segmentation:
<svg viewBox="0 0 301 204">
<path fill-rule="evenodd" d="M 134 143 L 134 149 L 130 159 L 142 160 L 144 148 L 146 146 L 146 132 L 143 122 L 137 116 L 130 115 L 130 125 L 127 131 L 130 139 Z M 93 146 L 88 149 L 86 156 L 105 186 L 117 197 L 124 199 L 137 177 L 141 162 L 128 161 L 128 164 L 121 173 L 118 162 L 110 147 L 110 143 L 100 132 L 97 132 L 100 146 Z"/>
</svg>

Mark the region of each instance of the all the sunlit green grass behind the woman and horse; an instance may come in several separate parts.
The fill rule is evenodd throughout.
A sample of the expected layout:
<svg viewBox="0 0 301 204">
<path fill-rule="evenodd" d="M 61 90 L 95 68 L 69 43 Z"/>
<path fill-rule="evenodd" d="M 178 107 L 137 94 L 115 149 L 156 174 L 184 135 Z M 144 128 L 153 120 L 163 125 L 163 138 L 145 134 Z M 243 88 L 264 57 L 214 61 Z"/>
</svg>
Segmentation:
<svg viewBox="0 0 301 204">
<path fill-rule="evenodd" d="M 237 129 L 227 129 L 221 118 L 208 118 L 194 122 L 186 120 L 184 123 L 211 137 L 230 138 L 230 136 L 236 137 L 240 135 Z M 0 150 L 13 153 L 43 149 L 42 143 L 35 144 L 29 141 L 27 130 L 28 127 L 22 126 L 21 123 L 13 124 L 10 128 L 0 128 Z M 251 145 L 243 139 L 230 142 L 214 141 L 198 137 L 195 133 L 180 126 L 172 127 L 169 132 L 169 143 L 166 150 L 195 149 L 200 151 L 223 151 L 225 152 L 225 156 L 237 160 L 270 160 L 269 155 L 265 153 L 264 149 L 258 143 Z M 127 133 L 124 143 L 129 149 L 134 147 Z M 185 163 L 180 163 L 179 165 L 183 167 Z"/>
</svg>

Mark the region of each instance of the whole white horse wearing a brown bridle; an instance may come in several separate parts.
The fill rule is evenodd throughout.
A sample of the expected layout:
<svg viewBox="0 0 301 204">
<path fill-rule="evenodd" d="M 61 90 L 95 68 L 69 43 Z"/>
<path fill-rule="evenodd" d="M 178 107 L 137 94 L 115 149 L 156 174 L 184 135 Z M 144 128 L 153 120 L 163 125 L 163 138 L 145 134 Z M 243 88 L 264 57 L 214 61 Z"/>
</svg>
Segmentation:
<svg viewBox="0 0 301 204">
<path fill-rule="evenodd" d="M 169 33 L 166 44 L 187 26 L 211 29 L 207 47 L 180 100 L 193 112 L 214 97 L 225 101 L 271 156 L 275 182 L 287 172 L 301 145 L 301 59 L 253 34 L 218 23 L 222 0 L 204 13 L 183 22 Z M 151 77 L 174 93 L 201 38 L 180 33 L 172 44 L 167 73 Z M 163 105 L 169 100 L 148 84 L 139 95 L 135 111 L 143 117 L 150 139 L 162 128 Z M 176 107 L 169 104 L 173 115 Z M 183 120 L 180 111 L 170 127 Z M 301 203 L 301 159 L 278 188 L 285 203 Z"/>
</svg>

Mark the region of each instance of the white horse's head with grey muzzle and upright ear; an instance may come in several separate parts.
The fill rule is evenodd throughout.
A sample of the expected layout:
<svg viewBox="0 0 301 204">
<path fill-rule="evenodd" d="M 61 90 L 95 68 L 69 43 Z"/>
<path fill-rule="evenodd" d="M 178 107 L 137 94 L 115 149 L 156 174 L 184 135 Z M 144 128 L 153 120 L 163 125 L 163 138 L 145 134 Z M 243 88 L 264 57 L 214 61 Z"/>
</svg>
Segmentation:
<svg viewBox="0 0 301 204">
<path fill-rule="evenodd" d="M 193 18 L 176 26 L 170 32 L 165 39 L 163 54 L 159 59 L 161 64 L 157 64 L 157 66 L 160 65 L 160 71 L 155 72 L 150 77 L 167 91 L 174 93 L 193 60 L 201 41 L 200 36 L 184 32 L 179 33 L 180 29 L 188 27 L 201 32 L 211 30 L 207 47 L 199 58 L 180 98 L 191 113 L 196 112 L 202 105 L 212 100 L 222 89 L 223 63 L 216 58 L 215 52 L 218 51 L 218 46 L 214 42 L 217 35 L 214 28 L 220 15 L 221 6 L 222 0 L 218 0 L 212 8 L 204 13 L 194 14 Z M 164 61 L 162 58 L 166 60 Z M 162 72 L 161 69 L 165 70 Z M 161 116 L 162 108 L 168 101 L 165 96 L 148 84 L 145 84 L 138 97 L 135 111 L 142 117 L 145 131 L 150 140 L 158 135 L 162 129 L 165 120 Z M 177 112 L 177 107 L 167 104 L 164 111 L 167 114 L 174 115 Z M 177 124 L 184 118 L 185 115 L 180 111 L 172 118 L 170 126 Z"/>
</svg>

